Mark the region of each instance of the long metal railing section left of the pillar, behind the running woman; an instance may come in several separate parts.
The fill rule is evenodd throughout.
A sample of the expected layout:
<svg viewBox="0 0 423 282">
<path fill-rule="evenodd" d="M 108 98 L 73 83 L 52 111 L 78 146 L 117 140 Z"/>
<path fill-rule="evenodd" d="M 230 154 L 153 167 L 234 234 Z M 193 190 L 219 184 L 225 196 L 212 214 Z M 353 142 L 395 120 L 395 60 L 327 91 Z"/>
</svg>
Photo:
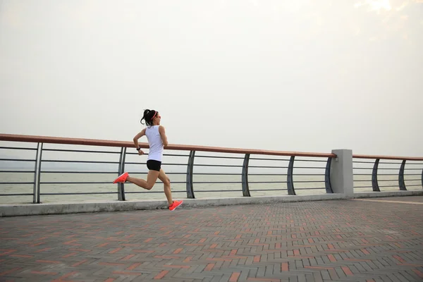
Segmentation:
<svg viewBox="0 0 423 282">
<path fill-rule="evenodd" d="M 0 182 L 0 197 L 7 196 L 32 196 L 33 203 L 42 202 L 42 196 L 53 196 L 53 195 L 101 195 L 101 194 L 117 194 L 117 199 L 125 201 L 128 194 L 140 194 L 140 193 L 162 193 L 161 191 L 145 191 L 137 189 L 135 191 L 125 191 L 125 184 L 118 183 L 117 189 L 115 191 L 96 191 L 96 192 L 73 192 L 71 189 L 65 192 L 56 192 L 49 191 L 44 192 L 44 185 L 72 185 L 72 184 L 91 184 L 91 185 L 104 185 L 111 184 L 116 175 L 128 171 L 129 173 L 140 173 L 140 171 L 128 168 L 134 165 L 145 165 L 145 162 L 140 162 L 140 159 L 137 161 L 130 161 L 130 158 L 133 155 L 137 155 L 134 145 L 132 142 L 118 142 L 118 141 L 109 141 L 109 140 L 87 140 L 87 139 L 76 139 L 76 138 L 61 138 L 61 137 L 43 137 L 43 136 L 30 136 L 30 135 L 0 135 L 0 141 L 3 142 L 12 142 L 13 146 L 1 146 L 1 150 L 13 151 L 29 151 L 32 152 L 33 156 L 31 158 L 1 158 L 0 161 L 4 162 L 30 162 L 32 163 L 32 169 L 16 169 L 13 170 L 6 166 L 5 169 L 0 168 L 0 173 L 32 173 L 32 181 L 1 181 Z M 20 144 L 20 147 L 16 146 L 16 143 Z M 29 144 L 33 144 L 33 147 L 30 147 Z M 22 147 L 22 145 L 26 145 Z M 47 147 L 47 145 L 73 145 L 74 147 L 68 148 L 54 148 Z M 35 147 L 34 147 L 35 146 Z M 82 146 L 82 149 L 75 149 L 75 147 Z M 103 149 L 86 149 L 85 147 L 102 147 Z M 143 148 L 148 148 L 146 143 L 140 143 L 140 146 Z M 114 151 L 106 150 L 104 147 L 111 147 Z M 118 150 L 117 150 L 118 149 Z M 133 152 L 130 152 L 128 149 L 133 149 Z M 74 159 L 65 159 L 64 157 L 52 158 L 48 154 L 50 152 L 56 152 L 60 154 L 71 153 Z M 183 153 L 185 152 L 185 154 Z M 212 155 L 207 155 L 212 153 Z M 80 158 L 75 159 L 77 154 L 106 154 L 111 155 L 108 160 L 82 160 Z M 216 154 L 226 154 L 219 156 Z M 230 154 L 228 156 L 227 154 Z M 13 154 L 12 154 L 13 155 Z M 114 157 L 113 157 L 114 156 Z M 178 166 L 183 168 L 184 171 L 179 172 L 167 172 L 168 175 L 181 175 L 185 176 L 185 181 L 173 181 L 172 184 L 185 184 L 185 190 L 173 190 L 173 193 L 186 193 L 186 197 L 195 198 L 197 193 L 220 193 L 224 196 L 226 192 L 238 192 L 239 196 L 243 195 L 244 197 L 251 197 L 255 192 L 266 192 L 266 191 L 283 191 L 286 190 L 288 195 L 297 195 L 297 192 L 301 190 L 322 190 L 327 193 L 331 193 L 331 182 L 330 182 L 330 168 L 331 168 L 331 159 L 336 157 L 335 154 L 319 154 L 319 153 L 304 153 L 304 152 L 279 152 L 279 151 L 266 151 L 266 150 L 255 150 L 255 149 L 233 149 L 233 148 L 222 148 L 222 147 L 202 147 L 202 146 L 187 146 L 187 145 L 168 145 L 165 148 L 165 157 L 178 157 L 179 159 L 185 158 L 185 163 L 164 163 L 163 166 Z M 271 158 L 273 156 L 273 158 Z M 289 158 L 276 158 L 276 157 L 289 157 Z M 308 159 L 307 159 L 308 158 Z M 310 159 L 312 158 L 312 159 Z M 322 159 L 323 158 L 323 159 Z M 167 158 L 165 158 L 167 159 Z M 214 160 L 214 164 L 210 163 L 210 159 Z M 145 160 L 145 159 L 141 159 Z M 206 162 L 204 162 L 206 160 Z M 207 162 L 208 161 L 208 162 Z M 216 163 L 216 161 L 219 161 Z M 277 162 L 278 165 L 254 165 L 251 164 L 252 161 L 271 161 Z M 231 163 L 232 162 L 232 163 Z M 234 163 L 235 162 L 235 163 Z M 312 162 L 316 164 L 324 164 L 324 166 L 294 166 L 294 164 L 301 164 L 302 162 Z M 231 163 L 231 164 L 228 164 Z M 107 170 L 97 170 L 97 171 L 78 171 L 73 170 L 63 170 L 63 169 L 47 169 L 45 168 L 47 164 L 78 164 L 80 166 L 86 164 L 96 164 L 96 165 L 113 165 L 117 166 L 117 169 L 112 169 L 111 171 Z M 196 169 L 203 168 L 203 171 L 196 172 Z M 205 169 L 204 169 L 205 168 Z M 213 169 L 222 168 L 225 171 L 213 172 Z M 252 170 L 260 170 L 261 168 L 271 171 L 271 173 L 255 173 Z M 317 170 L 323 169 L 324 173 L 294 173 L 294 169 L 301 171 L 303 169 Z M 234 171 L 235 170 L 235 171 Z M 286 173 L 283 173 L 286 170 Z M 276 172 L 275 172 L 276 171 Z M 63 179 L 59 180 L 42 180 L 44 174 L 63 174 L 70 173 L 76 178 L 78 174 L 81 173 L 90 173 L 90 174 L 102 174 L 109 173 L 111 178 L 109 181 L 87 181 L 87 180 L 72 180 L 67 181 Z M 233 180 L 219 180 L 219 181 L 196 181 L 195 177 L 197 176 L 233 176 L 237 179 Z M 277 176 L 284 177 L 284 180 L 250 180 L 249 178 L 255 176 Z M 297 180 L 294 181 L 294 176 L 323 176 L 324 180 Z M 160 183 L 160 181 L 157 181 Z M 319 187 L 304 188 L 302 187 L 305 183 L 323 183 Z M 196 189 L 197 185 L 207 184 L 211 185 L 211 188 L 206 189 Z M 226 184 L 239 184 L 240 189 L 226 189 L 216 190 L 213 188 L 217 185 L 226 185 Z M 251 189 L 251 185 L 264 184 L 271 185 L 281 184 L 281 187 L 275 189 Z M 5 193 L 1 189 L 1 185 L 32 185 L 32 192 L 26 193 L 17 193 L 10 192 Z M 286 189 L 283 189 L 282 185 L 286 185 Z M 298 186 L 298 187 L 297 187 Z M 277 192 L 276 192 L 277 193 Z M 277 193 L 277 195 L 281 195 Z"/>
</svg>

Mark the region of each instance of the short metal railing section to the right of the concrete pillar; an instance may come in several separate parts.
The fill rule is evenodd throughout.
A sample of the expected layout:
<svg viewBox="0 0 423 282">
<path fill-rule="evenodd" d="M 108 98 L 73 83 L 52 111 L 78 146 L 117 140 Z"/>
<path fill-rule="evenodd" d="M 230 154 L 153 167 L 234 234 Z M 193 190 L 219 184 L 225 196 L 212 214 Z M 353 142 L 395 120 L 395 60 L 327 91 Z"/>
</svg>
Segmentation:
<svg viewBox="0 0 423 282">
<path fill-rule="evenodd" d="M 353 175 L 359 178 L 354 179 L 355 191 L 368 191 L 370 188 L 374 192 L 381 192 L 381 188 L 399 188 L 402 191 L 407 188 L 423 188 L 423 158 L 353 154 L 353 164 L 357 164 L 353 167 L 357 173 Z M 406 173 L 407 171 L 410 173 Z M 410 178 L 407 179 L 407 176 Z"/>
</svg>

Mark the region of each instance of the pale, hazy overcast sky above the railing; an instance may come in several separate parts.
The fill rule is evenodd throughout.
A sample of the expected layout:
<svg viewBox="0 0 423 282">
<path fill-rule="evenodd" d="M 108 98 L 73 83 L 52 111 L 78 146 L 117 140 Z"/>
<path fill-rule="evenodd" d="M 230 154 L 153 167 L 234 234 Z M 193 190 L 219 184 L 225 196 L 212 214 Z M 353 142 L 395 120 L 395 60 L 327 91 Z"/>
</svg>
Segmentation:
<svg viewBox="0 0 423 282">
<path fill-rule="evenodd" d="M 0 0 L 0 93 L 0 133 L 422 157 L 423 3 Z"/>
</svg>

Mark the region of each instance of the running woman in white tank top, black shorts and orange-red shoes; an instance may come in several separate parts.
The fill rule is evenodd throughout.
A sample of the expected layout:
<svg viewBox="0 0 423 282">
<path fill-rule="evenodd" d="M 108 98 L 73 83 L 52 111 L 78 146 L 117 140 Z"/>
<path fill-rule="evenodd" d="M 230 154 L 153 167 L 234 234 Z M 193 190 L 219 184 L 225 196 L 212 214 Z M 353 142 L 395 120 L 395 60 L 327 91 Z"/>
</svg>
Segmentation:
<svg viewBox="0 0 423 282">
<path fill-rule="evenodd" d="M 135 135 L 134 144 L 135 148 L 137 148 L 138 154 L 144 154 L 140 145 L 138 145 L 138 140 L 144 135 L 147 136 L 149 143 L 149 153 L 147 158 L 147 168 L 149 171 L 147 175 L 147 181 L 140 178 L 130 177 L 128 172 L 125 172 L 118 176 L 118 178 L 114 180 L 114 183 L 124 183 L 128 181 L 140 186 L 141 188 L 151 190 L 156 183 L 157 178 L 159 178 L 164 184 L 164 194 L 168 200 L 169 209 L 173 211 L 179 207 L 183 201 L 172 200 L 171 181 L 169 180 L 168 176 L 166 176 L 166 173 L 164 173 L 163 168 L 161 168 L 163 149 L 168 145 L 164 126 L 160 125 L 161 116 L 158 111 L 150 111 L 149 109 L 146 109 L 144 111 L 144 116 L 141 118 L 141 124 L 144 124 L 142 123 L 142 120 L 145 120 L 147 127 Z"/>
</svg>

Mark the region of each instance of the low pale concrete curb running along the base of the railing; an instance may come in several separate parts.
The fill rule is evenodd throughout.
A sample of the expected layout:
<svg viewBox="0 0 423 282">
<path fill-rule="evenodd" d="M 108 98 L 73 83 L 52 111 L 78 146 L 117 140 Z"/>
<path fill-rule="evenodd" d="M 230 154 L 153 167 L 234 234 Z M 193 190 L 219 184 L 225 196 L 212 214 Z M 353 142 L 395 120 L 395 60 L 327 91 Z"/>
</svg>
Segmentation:
<svg viewBox="0 0 423 282">
<path fill-rule="evenodd" d="M 392 191 L 392 192 L 360 192 L 354 195 L 323 194 L 301 196 L 262 196 L 262 197 L 232 197 L 232 198 L 207 198 L 185 199 L 182 207 L 213 207 L 233 204 L 266 204 L 276 202 L 304 202 L 322 200 L 346 200 L 352 198 L 370 197 L 398 197 L 423 195 L 423 190 Z M 90 212 L 123 212 L 142 209 L 166 209 L 166 201 L 142 200 L 125 202 L 55 202 L 45 204 L 0 204 L 0 217 L 2 216 L 30 216 L 45 214 L 77 214 Z"/>
</svg>

